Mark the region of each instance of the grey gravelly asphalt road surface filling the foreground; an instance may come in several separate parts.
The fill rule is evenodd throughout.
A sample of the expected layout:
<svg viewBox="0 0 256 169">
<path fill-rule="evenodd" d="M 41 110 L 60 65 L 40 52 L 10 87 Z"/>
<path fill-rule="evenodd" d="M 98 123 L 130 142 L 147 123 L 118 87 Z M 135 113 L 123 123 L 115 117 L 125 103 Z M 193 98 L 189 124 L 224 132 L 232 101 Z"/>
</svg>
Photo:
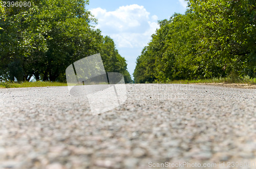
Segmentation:
<svg viewBox="0 0 256 169">
<path fill-rule="evenodd" d="M 67 87 L 0 89 L 0 168 L 152 168 L 165 162 L 170 168 L 181 162 L 253 168 L 248 163 L 256 163 L 255 89 L 179 84 L 126 89 L 123 105 L 95 116 L 86 97 L 70 95 Z"/>
</svg>

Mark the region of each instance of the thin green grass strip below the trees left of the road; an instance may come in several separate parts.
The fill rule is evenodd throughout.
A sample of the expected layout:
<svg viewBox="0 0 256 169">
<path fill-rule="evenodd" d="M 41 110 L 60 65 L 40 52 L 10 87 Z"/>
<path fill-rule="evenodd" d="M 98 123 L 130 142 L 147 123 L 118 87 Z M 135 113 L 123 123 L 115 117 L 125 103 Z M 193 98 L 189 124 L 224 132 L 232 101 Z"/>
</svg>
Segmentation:
<svg viewBox="0 0 256 169">
<path fill-rule="evenodd" d="M 0 82 L 0 88 L 31 88 L 31 87 L 49 87 L 49 86 L 67 86 L 63 82 L 35 81 L 35 82 Z"/>
</svg>

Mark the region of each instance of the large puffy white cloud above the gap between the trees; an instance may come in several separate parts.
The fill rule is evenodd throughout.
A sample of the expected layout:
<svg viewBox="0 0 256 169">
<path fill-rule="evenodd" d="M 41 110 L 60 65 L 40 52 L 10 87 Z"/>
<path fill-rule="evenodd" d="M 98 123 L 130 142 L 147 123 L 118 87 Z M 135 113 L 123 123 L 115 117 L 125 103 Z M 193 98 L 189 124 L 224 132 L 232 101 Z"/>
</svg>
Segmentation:
<svg viewBox="0 0 256 169">
<path fill-rule="evenodd" d="M 159 28 L 158 17 L 150 16 L 143 6 L 136 4 L 121 6 L 115 11 L 101 8 L 90 11 L 98 19 L 96 28 L 113 38 L 119 48 L 144 47 Z"/>
</svg>

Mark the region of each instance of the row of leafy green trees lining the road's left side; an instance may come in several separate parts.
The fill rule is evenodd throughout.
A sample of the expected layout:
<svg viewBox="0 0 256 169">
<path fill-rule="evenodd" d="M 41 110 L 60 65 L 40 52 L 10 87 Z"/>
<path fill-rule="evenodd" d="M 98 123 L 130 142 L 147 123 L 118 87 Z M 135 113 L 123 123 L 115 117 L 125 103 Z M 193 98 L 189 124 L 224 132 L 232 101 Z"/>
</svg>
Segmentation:
<svg viewBox="0 0 256 169">
<path fill-rule="evenodd" d="M 0 0 L 0 81 L 66 81 L 70 64 L 95 53 L 106 71 L 132 81 L 114 41 L 93 28 L 97 20 L 86 9 L 88 0 L 27 2 L 30 7 L 4 7 Z"/>
</svg>

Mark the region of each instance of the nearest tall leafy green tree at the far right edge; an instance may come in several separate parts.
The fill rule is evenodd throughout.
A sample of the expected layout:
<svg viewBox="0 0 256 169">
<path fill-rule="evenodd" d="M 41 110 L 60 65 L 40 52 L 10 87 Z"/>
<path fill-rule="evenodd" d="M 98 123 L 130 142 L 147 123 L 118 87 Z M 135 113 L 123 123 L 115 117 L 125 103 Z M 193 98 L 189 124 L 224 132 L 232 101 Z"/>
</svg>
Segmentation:
<svg viewBox="0 0 256 169">
<path fill-rule="evenodd" d="M 191 9 L 202 19 L 204 52 L 226 74 L 256 77 L 256 7 L 254 0 L 196 1 Z"/>
</svg>

